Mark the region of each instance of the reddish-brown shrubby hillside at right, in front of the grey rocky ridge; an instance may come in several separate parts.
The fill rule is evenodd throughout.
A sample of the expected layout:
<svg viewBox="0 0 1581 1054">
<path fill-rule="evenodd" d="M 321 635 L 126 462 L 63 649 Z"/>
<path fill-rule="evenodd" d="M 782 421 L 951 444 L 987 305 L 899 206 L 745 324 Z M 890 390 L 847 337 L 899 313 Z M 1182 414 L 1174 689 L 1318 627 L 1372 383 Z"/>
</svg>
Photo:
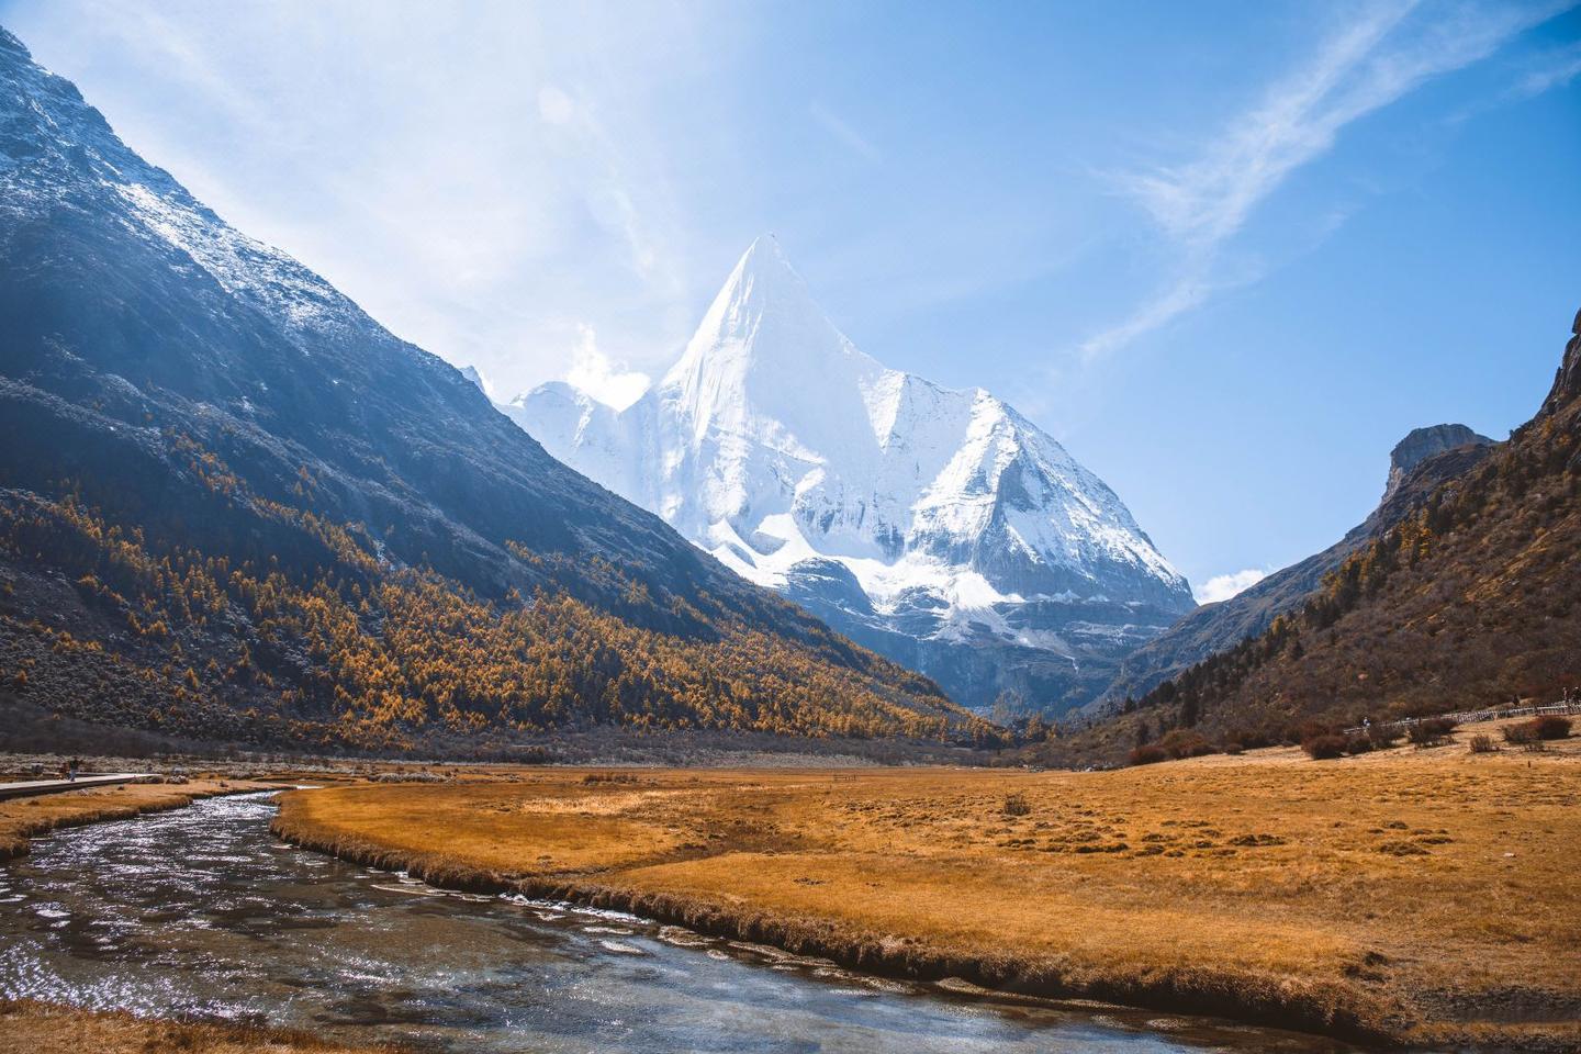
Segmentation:
<svg viewBox="0 0 1581 1054">
<path fill-rule="evenodd" d="M 1581 333 L 1581 316 L 1573 326 Z M 1538 414 L 1420 495 L 1262 634 L 1088 730 L 1110 754 L 1172 728 L 1214 743 L 1549 702 L 1581 684 L 1581 335 Z M 1075 743 L 1072 744 L 1077 746 Z"/>
</svg>

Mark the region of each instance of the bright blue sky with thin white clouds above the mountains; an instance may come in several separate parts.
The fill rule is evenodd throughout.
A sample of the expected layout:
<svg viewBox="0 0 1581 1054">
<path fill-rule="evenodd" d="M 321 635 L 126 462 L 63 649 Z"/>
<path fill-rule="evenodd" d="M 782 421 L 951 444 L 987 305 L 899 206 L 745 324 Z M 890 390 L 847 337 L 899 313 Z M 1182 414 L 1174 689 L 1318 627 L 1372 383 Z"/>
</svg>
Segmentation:
<svg viewBox="0 0 1581 1054">
<path fill-rule="evenodd" d="M 1504 438 L 1581 307 L 1564 3 L 0 22 L 236 226 L 504 397 L 631 397 L 772 231 L 860 348 L 1015 403 L 1200 591 L 1338 539 L 1410 428 Z"/>
</svg>

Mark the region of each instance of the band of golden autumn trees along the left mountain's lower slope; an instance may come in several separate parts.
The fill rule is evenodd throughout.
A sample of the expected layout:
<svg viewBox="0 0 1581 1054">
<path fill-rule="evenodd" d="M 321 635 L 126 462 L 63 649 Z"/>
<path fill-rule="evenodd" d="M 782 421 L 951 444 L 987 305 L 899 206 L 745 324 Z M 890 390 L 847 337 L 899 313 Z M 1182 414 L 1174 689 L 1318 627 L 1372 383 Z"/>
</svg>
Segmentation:
<svg viewBox="0 0 1581 1054">
<path fill-rule="evenodd" d="M 251 498 L 193 457 L 226 499 Z M 3 691 L 193 741 L 375 751 L 588 724 L 933 740 L 966 724 L 923 678 L 892 670 L 879 684 L 718 604 L 677 612 L 707 637 L 640 629 L 557 588 L 553 564 L 550 585 L 490 602 L 381 563 L 364 529 L 258 507 L 319 559 L 157 547 L 70 495 L 0 491 Z M 585 570 L 623 591 L 623 608 L 653 604 L 613 564 Z"/>
</svg>

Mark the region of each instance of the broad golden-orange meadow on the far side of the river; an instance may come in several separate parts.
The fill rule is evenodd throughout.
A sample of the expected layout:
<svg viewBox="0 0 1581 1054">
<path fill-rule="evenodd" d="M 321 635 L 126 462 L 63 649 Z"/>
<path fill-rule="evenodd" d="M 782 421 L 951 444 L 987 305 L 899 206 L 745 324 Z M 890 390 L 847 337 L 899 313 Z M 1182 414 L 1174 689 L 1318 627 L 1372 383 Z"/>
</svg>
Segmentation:
<svg viewBox="0 0 1581 1054">
<path fill-rule="evenodd" d="M 847 966 L 1374 1041 L 1581 1045 L 1581 741 L 1115 773 L 522 770 L 278 834 Z"/>
</svg>

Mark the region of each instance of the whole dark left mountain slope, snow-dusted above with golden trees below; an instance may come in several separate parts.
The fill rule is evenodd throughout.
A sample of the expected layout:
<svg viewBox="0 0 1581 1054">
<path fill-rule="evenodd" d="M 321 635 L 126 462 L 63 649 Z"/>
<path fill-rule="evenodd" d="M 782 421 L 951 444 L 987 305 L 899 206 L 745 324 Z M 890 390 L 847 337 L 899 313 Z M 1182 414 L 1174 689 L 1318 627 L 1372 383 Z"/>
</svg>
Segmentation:
<svg viewBox="0 0 1581 1054">
<path fill-rule="evenodd" d="M 0 30 L 0 678 L 194 738 L 944 736 L 911 675 L 564 468 Z"/>
</svg>

